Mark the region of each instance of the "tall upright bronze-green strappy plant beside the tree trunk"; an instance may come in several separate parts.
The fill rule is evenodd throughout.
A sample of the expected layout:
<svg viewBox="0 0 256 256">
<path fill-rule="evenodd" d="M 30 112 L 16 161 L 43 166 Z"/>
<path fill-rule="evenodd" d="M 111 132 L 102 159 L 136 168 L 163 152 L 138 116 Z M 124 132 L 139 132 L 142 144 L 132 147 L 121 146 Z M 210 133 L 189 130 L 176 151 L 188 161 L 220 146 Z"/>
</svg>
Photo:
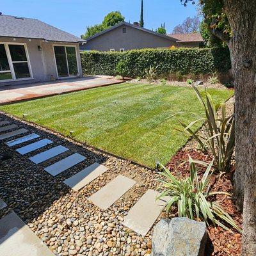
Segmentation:
<svg viewBox="0 0 256 256">
<path fill-rule="evenodd" d="M 214 104 L 209 93 L 206 94 L 206 102 L 198 89 L 193 86 L 196 96 L 204 108 L 205 116 L 186 125 L 182 132 L 193 136 L 202 147 L 202 151 L 214 159 L 214 168 L 220 172 L 228 172 L 235 148 L 234 115 L 227 116 L 225 104 Z M 220 111 L 220 112 L 218 112 Z M 204 122 L 200 132 L 193 131 L 193 126 L 198 122 Z"/>
</svg>

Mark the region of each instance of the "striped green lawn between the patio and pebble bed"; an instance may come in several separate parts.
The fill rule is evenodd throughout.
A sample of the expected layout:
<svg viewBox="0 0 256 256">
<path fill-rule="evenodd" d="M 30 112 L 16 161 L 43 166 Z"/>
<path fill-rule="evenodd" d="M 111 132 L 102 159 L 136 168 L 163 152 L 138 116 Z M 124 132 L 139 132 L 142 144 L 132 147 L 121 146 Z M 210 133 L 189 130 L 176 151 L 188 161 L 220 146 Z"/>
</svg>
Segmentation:
<svg viewBox="0 0 256 256">
<path fill-rule="evenodd" d="M 209 89 L 224 102 L 232 90 Z M 137 163 L 166 164 L 188 138 L 176 131 L 177 118 L 189 124 L 202 109 L 193 88 L 116 84 L 1 106 L 1 110 L 54 129 Z"/>
</svg>

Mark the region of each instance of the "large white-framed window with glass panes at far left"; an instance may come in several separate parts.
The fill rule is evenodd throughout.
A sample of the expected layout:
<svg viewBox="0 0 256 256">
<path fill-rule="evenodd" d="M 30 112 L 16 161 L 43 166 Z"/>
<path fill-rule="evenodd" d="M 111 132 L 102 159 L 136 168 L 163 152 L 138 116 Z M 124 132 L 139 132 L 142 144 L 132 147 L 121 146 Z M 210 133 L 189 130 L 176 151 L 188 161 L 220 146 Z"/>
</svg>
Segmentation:
<svg viewBox="0 0 256 256">
<path fill-rule="evenodd" d="M 0 44 L 0 81 L 30 77 L 26 44 Z"/>
</svg>

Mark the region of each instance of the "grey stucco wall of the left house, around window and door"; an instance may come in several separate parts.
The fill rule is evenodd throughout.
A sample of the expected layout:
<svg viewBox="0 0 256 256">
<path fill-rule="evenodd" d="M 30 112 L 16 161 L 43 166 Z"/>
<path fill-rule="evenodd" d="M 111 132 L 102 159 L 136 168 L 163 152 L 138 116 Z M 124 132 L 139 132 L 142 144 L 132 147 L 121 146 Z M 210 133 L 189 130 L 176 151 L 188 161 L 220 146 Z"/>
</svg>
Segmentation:
<svg viewBox="0 0 256 256">
<path fill-rule="evenodd" d="M 1 81 L 1 85 L 12 85 L 12 84 L 27 84 L 27 83 L 35 83 L 35 82 L 44 82 L 51 81 L 51 76 L 54 79 L 57 79 L 57 71 L 56 64 L 54 59 L 54 50 L 53 45 L 74 45 L 76 46 L 76 54 L 78 60 L 78 72 L 79 76 L 83 76 L 82 67 L 81 67 L 81 59 L 79 54 L 79 44 L 77 43 L 60 43 L 60 42 L 44 42 L 39 39 L 31 39 L 29 41 L 28 38 L 8 38 L 8 37 L 0 37 L 0 43 L 8 42 L 8 43 L 22 43 L 27 45 L 28 50 L 28 58 L 31 65 L 33 79 L 26 79 L 22 81 Z M 38 45 L 42 48 L 42 51 L 38 51 Z"/>
</svg>

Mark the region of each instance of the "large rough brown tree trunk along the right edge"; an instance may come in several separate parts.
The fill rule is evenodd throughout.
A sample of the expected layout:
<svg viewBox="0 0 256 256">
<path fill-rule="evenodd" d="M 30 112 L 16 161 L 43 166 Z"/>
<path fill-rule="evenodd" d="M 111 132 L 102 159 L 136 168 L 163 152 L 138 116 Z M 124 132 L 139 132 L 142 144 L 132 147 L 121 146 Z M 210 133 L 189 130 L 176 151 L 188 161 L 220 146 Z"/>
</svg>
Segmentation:
<svg viewBox="0 0 256 256">
<path fill-rule="evenodd" d="M 256 0 L 223 0 L 234 36 L 237 205 L 243 209 L 242 255 L 256 255 Z"/>
</svg>

